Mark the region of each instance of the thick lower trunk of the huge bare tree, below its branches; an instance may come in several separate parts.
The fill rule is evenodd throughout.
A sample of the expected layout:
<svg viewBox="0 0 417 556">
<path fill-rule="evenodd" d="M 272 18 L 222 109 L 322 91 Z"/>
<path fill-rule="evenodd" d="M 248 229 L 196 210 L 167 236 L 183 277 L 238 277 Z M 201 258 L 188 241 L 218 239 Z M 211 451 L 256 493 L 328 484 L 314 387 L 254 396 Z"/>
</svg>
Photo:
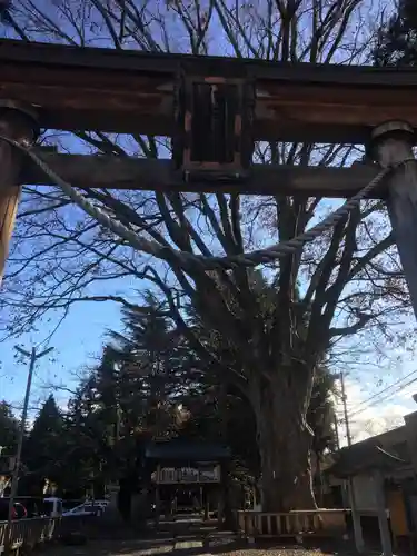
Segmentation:
<svg viewBox="0 0 417 556">
<path fill-rule="evenodd" d="M 312 435 L 302 399 L 282 385 L 258 385 L 255 414 L 261 459 L 264 512 L 316 508 L 311 483 Z M 301 390 L 300 390 L 301 391 Z"/>
</svg>

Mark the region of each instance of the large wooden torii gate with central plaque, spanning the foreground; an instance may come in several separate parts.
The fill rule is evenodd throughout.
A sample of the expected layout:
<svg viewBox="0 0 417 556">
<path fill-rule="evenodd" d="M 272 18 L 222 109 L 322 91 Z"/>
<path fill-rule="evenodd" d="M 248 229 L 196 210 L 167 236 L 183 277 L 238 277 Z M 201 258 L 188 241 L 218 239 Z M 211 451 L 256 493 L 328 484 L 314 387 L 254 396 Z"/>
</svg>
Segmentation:
<svg viewBox="0 0 417 556">
<path fill-rule="evenodd" d="M 1 136 L 29 145 L 48 128 L 172 139 L 171 160 L 42 152 L 75 187 L 350 197 L 380 166 L 414 158 L 416 91 L 409 69 L 0 40 Z M 351 168 L 252 165 L 256 141 L 366 145 L 370 158 Z M 387 199 L 417 314 L 416 176 L 405 165 L 375 197 Z M 0 141 L 0 277 L 20 186 L 49 182 Z"/>
</svg>

